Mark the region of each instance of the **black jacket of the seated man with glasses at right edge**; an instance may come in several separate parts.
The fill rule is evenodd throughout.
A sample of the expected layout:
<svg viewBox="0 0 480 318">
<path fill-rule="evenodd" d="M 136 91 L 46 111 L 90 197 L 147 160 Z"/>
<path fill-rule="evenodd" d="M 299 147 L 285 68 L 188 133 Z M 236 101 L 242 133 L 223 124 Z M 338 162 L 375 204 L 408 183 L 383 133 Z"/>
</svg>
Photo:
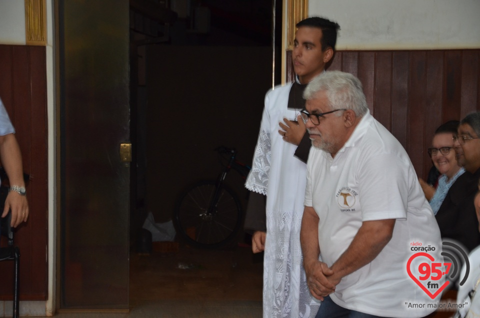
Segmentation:
<svg viewBox="0 0 480 318">
<path fill-rule="evenodd" d="M 480 245 L 478 219 L 473 200 L 478 191 L 480 169 L 474 174 L 465 171 L 451 185 L 435 215 L 441 238 L 454 239 L 471 251 Z M 467 252 L 468 252 L 467 251 Z"/>
</svg>

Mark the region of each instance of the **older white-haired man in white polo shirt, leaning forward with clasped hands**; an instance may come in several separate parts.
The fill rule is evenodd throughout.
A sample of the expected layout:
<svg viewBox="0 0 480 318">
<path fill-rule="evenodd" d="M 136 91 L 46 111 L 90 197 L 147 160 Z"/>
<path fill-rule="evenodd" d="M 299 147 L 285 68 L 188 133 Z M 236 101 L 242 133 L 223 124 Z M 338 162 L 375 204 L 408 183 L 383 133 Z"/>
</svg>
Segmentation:
<svg viewBox="0 0 480 318">
<path fill-rule="evenodd" d="M 300 240 L 310 292 L 323 300 L 317 317 L 432 312 L 428 303 L 438 302 L 441 292 L 432 298 L 410 278 L 419 280 L 418 264 L 432 261 L 414 257 L 418 248 L 411 246 L 434 247 L 428 254 L 442 262 L 440 232 L 408 155 L 370 116 L 353 75 L 326 72 L 304 97 L 313 147 Z M 407 270 L 410 258 L 415 265 Z M 428 287 L 443 285 L 441 275 L 432 277 Z"/>
</svg>

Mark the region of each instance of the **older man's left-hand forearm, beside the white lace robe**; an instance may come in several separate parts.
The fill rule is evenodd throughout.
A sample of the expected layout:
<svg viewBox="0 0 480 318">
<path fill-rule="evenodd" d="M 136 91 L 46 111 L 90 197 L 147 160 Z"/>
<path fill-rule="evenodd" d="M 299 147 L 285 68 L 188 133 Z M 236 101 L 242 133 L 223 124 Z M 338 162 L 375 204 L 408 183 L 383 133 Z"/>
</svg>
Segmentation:
<svg viewBox="0 0 480 318">
<path fill-rule="evenodd" d="M 300 229 L 300 244 L 303 253 L 303 266 L 318 261 L 318 215 L 313 207 L 305 206 Z"/>
</svg>

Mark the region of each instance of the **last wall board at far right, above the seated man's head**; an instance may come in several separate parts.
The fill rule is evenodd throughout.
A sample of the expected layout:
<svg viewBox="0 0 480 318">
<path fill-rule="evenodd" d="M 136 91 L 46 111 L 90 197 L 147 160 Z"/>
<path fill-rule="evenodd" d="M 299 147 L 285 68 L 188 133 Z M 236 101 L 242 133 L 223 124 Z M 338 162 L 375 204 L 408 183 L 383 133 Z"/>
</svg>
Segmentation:
<svg viewBox="0 0 480 318">
<path fill-rule="evenodd" d="M 478 101 L 478 75 L 480 74 L 480 63 L 478 59 L 478 50 L 462 51 L 460 118 L 480 109 Z"/>
</svg>

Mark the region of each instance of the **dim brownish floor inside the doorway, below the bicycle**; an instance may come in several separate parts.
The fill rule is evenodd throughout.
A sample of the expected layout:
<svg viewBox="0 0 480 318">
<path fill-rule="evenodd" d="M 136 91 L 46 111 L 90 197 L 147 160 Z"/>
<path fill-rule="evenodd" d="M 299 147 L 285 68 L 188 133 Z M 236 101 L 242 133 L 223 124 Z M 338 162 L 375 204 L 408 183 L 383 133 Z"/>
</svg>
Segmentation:
<svg viewBox="0 0 480 318">
<path fill-rule="evenodd" d="M 152 300 L 261 301 L 262 266 L 249 247 L 133 254 L 130 306 Z"/>
</svg>

